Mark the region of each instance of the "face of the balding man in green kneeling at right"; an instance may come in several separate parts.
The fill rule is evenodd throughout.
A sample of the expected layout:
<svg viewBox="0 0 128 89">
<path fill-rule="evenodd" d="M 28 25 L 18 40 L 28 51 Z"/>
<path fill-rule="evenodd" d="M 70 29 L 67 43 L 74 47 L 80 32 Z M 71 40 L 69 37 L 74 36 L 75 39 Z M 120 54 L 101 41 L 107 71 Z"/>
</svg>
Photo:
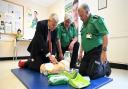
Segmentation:
<svg viewBox="0 0 128 89">
<path fill-rule="evenodd" d="M 87 19 L 88 19 L 88 12 L 86 10 L 84 10 L 83 8 L 79 8 L 78 9 L 78 14 L 79 14 L 80 19 L 83 22 L 87 21 Z"/>
</svg>

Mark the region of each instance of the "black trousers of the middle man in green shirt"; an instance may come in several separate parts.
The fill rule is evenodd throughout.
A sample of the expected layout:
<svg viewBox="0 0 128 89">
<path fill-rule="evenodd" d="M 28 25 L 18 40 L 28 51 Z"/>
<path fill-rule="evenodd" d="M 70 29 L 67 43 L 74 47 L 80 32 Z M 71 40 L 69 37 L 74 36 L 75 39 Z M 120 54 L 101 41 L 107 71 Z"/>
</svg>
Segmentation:
<svg viewBox="0 0 128 89">
<path fill-rule="evenodd" d="M 73 47 L 73 52 L 72 52 L 72 57 L 71 57 L 71 62 L 70 62 L 70 68 L 76 68 L 78 50 L 79 50 L 79 42 L 76 42 L 74 44 L 74 47 Z M 64 55 L 65 51 L 68 51 L 68 46 L 67 47 L 62 47 L 63 55 Z"/>
</svg>

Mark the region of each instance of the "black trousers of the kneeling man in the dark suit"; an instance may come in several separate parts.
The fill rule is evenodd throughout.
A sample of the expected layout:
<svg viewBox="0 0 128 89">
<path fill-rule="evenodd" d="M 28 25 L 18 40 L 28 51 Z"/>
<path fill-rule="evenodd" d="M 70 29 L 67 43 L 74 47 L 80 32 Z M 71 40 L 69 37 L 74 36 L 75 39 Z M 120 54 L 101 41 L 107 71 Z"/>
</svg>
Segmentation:
<svg viewBox="0 0 128 89">
<path fill-rule="evenodd" d="M 28 61 L 26 62 L 26 67 L 34 71 L 40 72 L 41 64 L 48 63 L 48 62 L 50 62 L 50 60 L 45 55 L 37 56 L 37 57 L 28 59 Z"/>
</svg>

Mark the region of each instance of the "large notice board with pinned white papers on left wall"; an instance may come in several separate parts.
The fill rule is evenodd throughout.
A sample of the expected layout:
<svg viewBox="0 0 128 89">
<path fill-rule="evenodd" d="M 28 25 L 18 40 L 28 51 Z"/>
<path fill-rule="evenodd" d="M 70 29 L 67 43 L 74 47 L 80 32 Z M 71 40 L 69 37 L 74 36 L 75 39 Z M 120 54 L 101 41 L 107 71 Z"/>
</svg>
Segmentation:
<svg viewBox="0 0 128 89">
<path fill-rule="evenodd" d="M 0 1 L 0 13 L 2 15 L 0 22 L 3 23 L 0 24 L 0 30 L 4 30 L 4 33 L 16 33 L 18 29 L 21 29 L 23 33 L 24 7 L 22 5 Z"/>
</svg>

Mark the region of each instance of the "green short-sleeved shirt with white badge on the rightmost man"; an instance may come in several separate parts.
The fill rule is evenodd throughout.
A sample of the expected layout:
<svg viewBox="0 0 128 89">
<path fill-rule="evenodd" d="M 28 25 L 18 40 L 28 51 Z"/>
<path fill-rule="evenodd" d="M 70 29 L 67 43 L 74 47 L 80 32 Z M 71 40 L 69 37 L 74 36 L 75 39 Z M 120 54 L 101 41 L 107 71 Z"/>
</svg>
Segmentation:
<svg viewBox="0 0 128 89">
<path fill-rule="evenodd" d="M 97 15 L 90 15 L 88 21 L 83 23 L 81 29 L 82 48 L 85 52 L 92 50 L 103 43 L 103 36 L 108 34 L 108 30 L 103 22 L 103 18 Z"/>
</svg>

